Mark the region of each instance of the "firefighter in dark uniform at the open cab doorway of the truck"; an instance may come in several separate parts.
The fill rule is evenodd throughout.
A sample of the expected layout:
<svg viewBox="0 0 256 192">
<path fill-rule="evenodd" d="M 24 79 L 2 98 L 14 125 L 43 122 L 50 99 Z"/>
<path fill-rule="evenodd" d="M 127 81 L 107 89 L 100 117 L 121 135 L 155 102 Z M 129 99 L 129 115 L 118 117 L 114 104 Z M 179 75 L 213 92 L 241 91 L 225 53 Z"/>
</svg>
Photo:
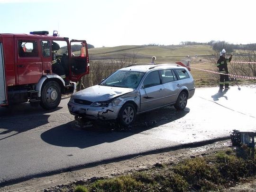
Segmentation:
<svg viewBox="0 0 256 192">
<path fill-rule="evenodd" d="M 61 60 L 59 58 L 56 58 L 56 51 L 59 49 L 60 49 L 59 44 L 53 42 L 52 43 L 52 69 L 53 69 L 53 73 L 65 79 L 66 75 L 65 75 L 64 67 L 61 64 Z"/>
</svg>

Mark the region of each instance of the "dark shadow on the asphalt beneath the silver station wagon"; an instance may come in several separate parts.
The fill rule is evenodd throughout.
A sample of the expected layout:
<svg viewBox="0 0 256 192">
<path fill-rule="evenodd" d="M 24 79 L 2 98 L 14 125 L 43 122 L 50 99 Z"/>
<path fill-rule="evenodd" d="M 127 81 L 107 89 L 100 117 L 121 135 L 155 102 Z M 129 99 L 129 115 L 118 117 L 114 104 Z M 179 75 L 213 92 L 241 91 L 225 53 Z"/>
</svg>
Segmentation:
<svg viewBox="0 0 256 192">
<path fill-rule="evenodd" d="M 153 127 L 170 123 L 184 117 L 189 111 L 189 108 L 177 111 L 174 107 L 165 107 L 138 116 L 132 127 L 122 131 L 113 129 L 114 127 L 107 122 L 95 122 L 91 128 L 78 129 L 72 121 L 42 133 L 41 138 L 52 145 L 84 149 L 105 142 L 115 142 Z"/>
</svg>

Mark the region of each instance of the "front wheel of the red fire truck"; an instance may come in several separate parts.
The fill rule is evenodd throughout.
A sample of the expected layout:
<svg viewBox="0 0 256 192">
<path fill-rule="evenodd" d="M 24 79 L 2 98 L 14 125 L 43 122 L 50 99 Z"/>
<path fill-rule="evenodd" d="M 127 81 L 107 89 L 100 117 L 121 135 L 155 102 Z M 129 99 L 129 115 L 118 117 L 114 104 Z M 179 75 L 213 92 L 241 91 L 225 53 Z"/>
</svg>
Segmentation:
<svg viewBox="0 0 256 192">
<path fill-rule="evenodd" d="M 44 109 L 54 109 L 61 101 L 61 88 L 55 81 L 49 81 L 43 85 L 40 105 Z"/>
</svg>

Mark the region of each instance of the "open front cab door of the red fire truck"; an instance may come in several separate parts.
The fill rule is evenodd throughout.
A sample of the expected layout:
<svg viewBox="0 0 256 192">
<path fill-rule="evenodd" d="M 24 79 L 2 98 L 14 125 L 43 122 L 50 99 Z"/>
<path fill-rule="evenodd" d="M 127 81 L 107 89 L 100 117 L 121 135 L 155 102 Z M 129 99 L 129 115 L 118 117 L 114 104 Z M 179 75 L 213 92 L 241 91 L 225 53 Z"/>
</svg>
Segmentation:
<svg viewBox="0 0 256 192">
<path fill-rule="evenodd" d="M 71 75 L 69 79 L 78 82 L 83 75 L 89 74 L 89 55 L 86 41 L 72 40 L 71 47 Z M 79 48 L 79 50 L 78 50 Z"/>
</svg>

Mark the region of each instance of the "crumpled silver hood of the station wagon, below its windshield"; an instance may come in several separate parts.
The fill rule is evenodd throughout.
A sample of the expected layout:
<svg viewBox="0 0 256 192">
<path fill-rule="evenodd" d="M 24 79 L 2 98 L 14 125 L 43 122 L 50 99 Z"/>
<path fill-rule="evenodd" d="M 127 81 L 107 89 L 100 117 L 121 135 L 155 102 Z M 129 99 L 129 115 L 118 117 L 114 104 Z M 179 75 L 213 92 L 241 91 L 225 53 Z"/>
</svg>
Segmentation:
<svg viewBox="0 0 256 192">
<path fill-rule="evenodd" d="M 114 97 L 133 92 L 134 89 L 94 85 L 73 94 L 74 99 L 89 100 L 91 102 L 106 101 Z"/>
</svg>

